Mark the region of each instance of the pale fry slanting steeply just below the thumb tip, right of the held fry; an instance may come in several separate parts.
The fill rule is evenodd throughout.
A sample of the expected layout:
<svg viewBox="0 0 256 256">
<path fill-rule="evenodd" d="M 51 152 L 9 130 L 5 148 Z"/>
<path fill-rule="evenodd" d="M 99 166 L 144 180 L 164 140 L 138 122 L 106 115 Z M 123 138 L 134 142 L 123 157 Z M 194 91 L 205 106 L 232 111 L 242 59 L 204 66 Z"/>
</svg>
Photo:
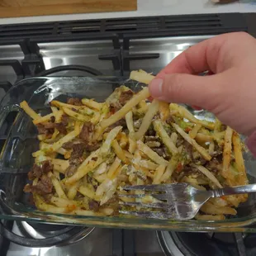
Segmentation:
<svg viewBox="0 0 256 256">
<path fill-rule="evenodd" d="M 154 115 L 159 111 L 159 101 L 153 100 L 153 102 L 149 105 L 149 110 L 146 112 L 142 123 L 140 125 L 140 129 L 135 133 L 135 140 L 141 140 L 145 135 L 146 131 L 149 129 L 151 125 L 152 119 Z"/>
</svg>

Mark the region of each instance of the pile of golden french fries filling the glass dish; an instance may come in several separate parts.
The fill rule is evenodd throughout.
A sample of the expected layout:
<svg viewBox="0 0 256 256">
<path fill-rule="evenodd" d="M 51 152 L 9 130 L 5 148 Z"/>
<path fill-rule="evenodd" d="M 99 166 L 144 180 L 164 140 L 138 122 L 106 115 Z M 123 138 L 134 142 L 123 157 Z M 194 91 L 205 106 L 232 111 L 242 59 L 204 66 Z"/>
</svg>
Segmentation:
<svg viewBox="0 0 256 256">
<path fill-rule="evenodd" d="M 148 84 L 154 76 L 140 70 L 131 72 L 130 78 Z M 21 102 L 21 108 L 35 125 L 44 125 L 52 116 L 55 122 L 61 121 L 63 115 L 69 116 L 66 135 L 56 129 L 50 137 L 38 135 L 40 149 L 33 153 L 35 163 L 40 166 L 50 161 L 54 167 L 47 173 L 54 192 L 47 200 L 33 192 L 39 210 L 113 216 L 118 215 L 119 201 L 155 201 L 147 196 L 142 199 L 117 197 L 117 194 L 132 193 L 123 190 L 126 185 L 185 182 L 203 190 L 248 183 L 242 155 L 244 145 L 234 130 L 217 119 L 215 122 L 198 120 L 177 104 L 155 99 L 149 102 L 149 96 L 149 89 L 143 88 L 115 113 L 109 111 L 109 101 L 116 97 L 115 92 L 106 102 L 83 98 L 83 106 L 52 101 L 52 112 L 46 116 L 40 116 L 26 102 Z M 125 119 L 126 126 L 115 126 L 121 119 Z M 139 127 L 135 126 L 138 119 Z M 101 146 L 94 152 L 85 152 L 83 163 L 68 177 L 65 174 L 72 149 L 64 149 L 63 145 L 78 138 L 84 122 L 88 121 L 94 126 L 90 143 Z M 145 141 L 149 130 L 154 130 L 158 141 Z M 191 145 L 192 159 L 185 150 L 185 142 Z M 158 145 L 163 145 L 166 155 L 154 150 Z M 213 172 L 206 166 L 214 159 L 216 149 L 221 150 L 220 163 Z M 38 178 L 32 183 L 36 186 Z M 246 199 L 247 195 L 211 198 L 201 207 L 196 219 L 224 220 L 225 215 L 235 215 L 235 207 Z M 97 211 L 90 208 L 90 201 L 97 203 Z"/>
</svg>

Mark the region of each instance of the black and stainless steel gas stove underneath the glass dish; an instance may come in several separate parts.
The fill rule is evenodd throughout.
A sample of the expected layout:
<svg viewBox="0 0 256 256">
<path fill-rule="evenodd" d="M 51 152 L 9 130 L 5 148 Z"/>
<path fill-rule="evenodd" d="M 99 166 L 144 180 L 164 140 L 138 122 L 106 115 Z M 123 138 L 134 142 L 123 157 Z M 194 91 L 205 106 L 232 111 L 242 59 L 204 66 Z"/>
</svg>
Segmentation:
<svg viewBox="0 0 256 256">
<path fill-rule="evenodd" d="M 141 17 L 0 26 L 0 99 L 32 76 L 123 76 L 132 69 L 158 73 L 183 50 L 231 31 L 256 36 L 254 14 Z M 8 116 L 0 130 L 4 144 Z M 1 172 L 0 172 L 1 175 Z M 1 209 L 0 209 L 1 211 Z M 256 255 L 256 236 L 112 230 L 2 220 L 4 256 Z"/>
</svg>

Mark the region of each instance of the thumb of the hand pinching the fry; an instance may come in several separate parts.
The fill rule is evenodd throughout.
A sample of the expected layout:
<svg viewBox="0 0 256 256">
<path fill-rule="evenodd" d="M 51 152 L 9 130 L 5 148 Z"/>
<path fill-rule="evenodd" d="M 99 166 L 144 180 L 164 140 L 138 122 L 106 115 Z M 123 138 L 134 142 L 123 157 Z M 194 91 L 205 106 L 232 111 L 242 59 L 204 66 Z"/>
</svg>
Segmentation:
<svg viewBox="0 0 256 256">
<path fill-rule="evenodd" d="M 187 73 L 167 74 L 149 84 L 151 96 L 165 102 L 186 103 L 207 110 L 220 102 L 220 74 L 197 76 Z"/>
</svg>

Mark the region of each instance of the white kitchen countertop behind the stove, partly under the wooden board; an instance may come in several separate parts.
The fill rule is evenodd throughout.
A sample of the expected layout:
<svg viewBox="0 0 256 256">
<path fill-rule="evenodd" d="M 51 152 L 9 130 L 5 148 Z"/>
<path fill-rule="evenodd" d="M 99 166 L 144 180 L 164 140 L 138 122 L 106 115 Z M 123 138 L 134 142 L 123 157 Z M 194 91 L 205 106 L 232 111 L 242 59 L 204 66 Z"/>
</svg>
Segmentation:
<svg viewBox="0 0 256 256">
<path fill-rule="evenodd" d="M 256 2 L 234 2 L 230 4 L 215 5 L 211 3 L 210 0 L 138 0 L 138 10 L 135 12 L 101 12 L 43 17 L 3 18 L 0 19 L 0 25 L 44 21 L 71 21 L 117 17 L 149 17 L 225 12 L 256 12 Z"/>
</svg>

